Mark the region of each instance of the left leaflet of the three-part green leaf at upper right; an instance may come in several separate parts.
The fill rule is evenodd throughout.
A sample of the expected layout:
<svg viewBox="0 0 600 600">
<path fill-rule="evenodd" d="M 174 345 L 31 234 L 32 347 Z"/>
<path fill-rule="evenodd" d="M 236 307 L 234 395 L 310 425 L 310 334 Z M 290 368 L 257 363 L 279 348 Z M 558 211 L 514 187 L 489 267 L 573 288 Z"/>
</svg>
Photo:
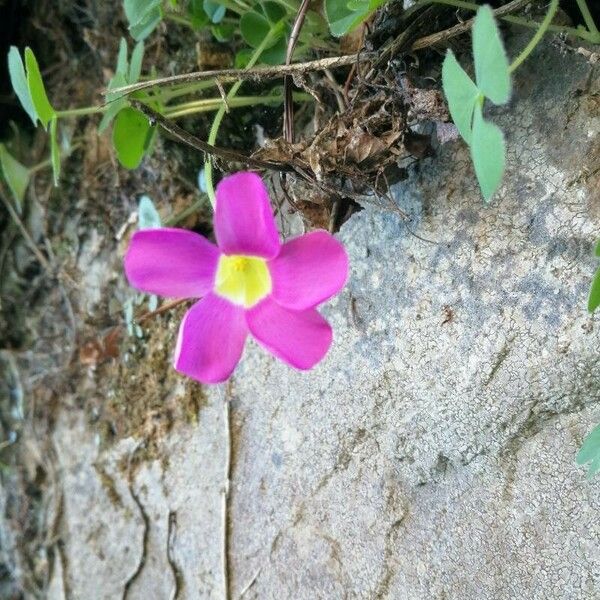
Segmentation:
<svg viewBox="0 0 600 600">
<path fill-rule="evenodd" d="M 471 144 L 473 110 L 480 91 L 448 50 L 442 66 L 442 85 L 452 120 L 467 144 Z"/>
</svg>

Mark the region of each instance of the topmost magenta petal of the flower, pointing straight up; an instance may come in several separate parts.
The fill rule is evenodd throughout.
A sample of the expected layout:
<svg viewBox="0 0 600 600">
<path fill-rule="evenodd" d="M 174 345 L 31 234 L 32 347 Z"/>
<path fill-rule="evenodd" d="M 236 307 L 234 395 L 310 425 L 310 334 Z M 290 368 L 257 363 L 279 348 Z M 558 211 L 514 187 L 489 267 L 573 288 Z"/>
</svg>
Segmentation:
<svg viewBox="0 0 600 600">
<path fill-rule="evenodd" d="M 217 185 L 214 227 L 225 254 L 273 258 L 279 252 L 269 194 L 256 173 L 236 173 Z"/>
</svg>

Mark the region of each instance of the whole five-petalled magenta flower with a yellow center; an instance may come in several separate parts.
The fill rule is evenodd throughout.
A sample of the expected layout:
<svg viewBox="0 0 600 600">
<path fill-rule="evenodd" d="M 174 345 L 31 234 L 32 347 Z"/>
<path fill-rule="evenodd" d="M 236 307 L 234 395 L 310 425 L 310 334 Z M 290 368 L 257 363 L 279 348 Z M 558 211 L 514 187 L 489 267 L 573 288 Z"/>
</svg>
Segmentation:
<svg viewBox="0 0 600 600">
<path fill-rule="evenodd" d="M 224 381 L 248 333 L 292 367 L 314 367 L 332 340 L 315 307 L 348 278 L 344 247 L 323 230 L 281 244 L 267 189 L 254 173 L 224 178 L 216 195 L 218 247 L 184 229 L 145 229 L 125 256 L 133 287 L 201 298 L 181 323 L 175 368 L 204 383 Z"/>
</svg>

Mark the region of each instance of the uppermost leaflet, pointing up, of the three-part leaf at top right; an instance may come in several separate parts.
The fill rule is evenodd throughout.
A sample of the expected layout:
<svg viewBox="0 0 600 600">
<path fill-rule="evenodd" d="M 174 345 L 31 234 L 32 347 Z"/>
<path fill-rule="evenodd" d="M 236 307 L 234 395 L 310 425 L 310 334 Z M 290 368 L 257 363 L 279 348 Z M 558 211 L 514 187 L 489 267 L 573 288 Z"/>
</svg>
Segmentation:
<svg viewBox="0 0 600 600">
<path fill-rule="evenodd" d="M 510 98 L 508 58 L 492 9 L 485 5 L 477 11 L 473 25 L 473 57 L 475 81 L 494 104 L 505 104 Z"/>
</svg>

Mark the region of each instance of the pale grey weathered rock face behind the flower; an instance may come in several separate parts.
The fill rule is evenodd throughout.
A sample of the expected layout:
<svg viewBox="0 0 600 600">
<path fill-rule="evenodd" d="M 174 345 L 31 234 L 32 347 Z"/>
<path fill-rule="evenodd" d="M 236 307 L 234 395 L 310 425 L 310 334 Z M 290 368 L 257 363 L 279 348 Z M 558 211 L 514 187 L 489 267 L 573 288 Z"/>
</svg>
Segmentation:
<svg viewBox="0 0 600 600">
<path fill-rule="evenodd" d="M 395 188 L 411 223 L 367 207 L 344 226 L 317 369 L 249 345 L 131 489 L 116 465 L 136 442 L 100 451 L 65 411 L 52 597 L 223 597 L 225 400 L 233 598 L 600 597 L 600 479 L 575 465 L 600 420 L 597 69 L 547 44 L 493 118 L 491 206 L 453 142 Z"/>
</svg>

